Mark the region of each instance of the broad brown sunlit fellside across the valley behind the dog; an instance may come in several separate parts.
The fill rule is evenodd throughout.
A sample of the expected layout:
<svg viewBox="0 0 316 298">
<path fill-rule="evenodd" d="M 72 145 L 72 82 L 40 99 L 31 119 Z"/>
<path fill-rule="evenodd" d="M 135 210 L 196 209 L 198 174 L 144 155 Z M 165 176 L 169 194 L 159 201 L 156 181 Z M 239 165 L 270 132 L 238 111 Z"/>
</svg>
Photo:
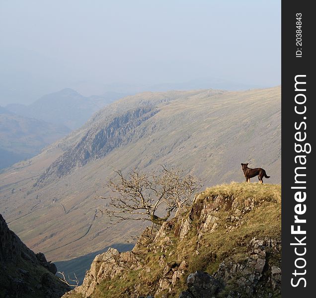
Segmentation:
<svg viewBox="0 0 316 298">
<path fill-rule="evenodd" d="M 206 185 L 243 181 L 241 162 L 280 183 L 281 88 L 144 92 L 0 174 L 0 209 L 35 251 L 68 260 L 135 243 L 142 224 L 98 215 L 113 169 L 184 168 Z M 256 182 L 256 179 L 251 179 Z M 88 269 L 88 267 L 86 268 Z M 74 267 L 75 270 L 75 267 Z"/>
</svg>

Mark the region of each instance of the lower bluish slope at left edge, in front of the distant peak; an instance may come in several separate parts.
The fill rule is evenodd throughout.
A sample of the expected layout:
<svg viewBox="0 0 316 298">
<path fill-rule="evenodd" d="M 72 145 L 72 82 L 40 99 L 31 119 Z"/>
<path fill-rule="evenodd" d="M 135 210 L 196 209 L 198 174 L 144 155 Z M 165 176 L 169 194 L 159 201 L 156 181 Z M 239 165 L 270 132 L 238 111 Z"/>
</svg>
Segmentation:
<svg viewBox="0 0 316 298">
<path fill-rule="evenodd" d="M 41 120 L 0 113 L 0 169 L 31 158 L 45 146 L 64 137 L 70 129 Z"/>
</svg>

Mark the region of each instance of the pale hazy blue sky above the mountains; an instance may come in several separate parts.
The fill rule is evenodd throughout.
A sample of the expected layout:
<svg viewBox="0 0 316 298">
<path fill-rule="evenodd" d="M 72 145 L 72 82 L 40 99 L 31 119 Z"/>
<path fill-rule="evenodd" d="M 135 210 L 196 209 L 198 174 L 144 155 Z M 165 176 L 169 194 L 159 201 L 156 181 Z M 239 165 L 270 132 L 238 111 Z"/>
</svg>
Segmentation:
<svg viewBox="0 0 316 298">
<path fill-rule="evenodd" d="M 0 0 L 0 105 L 65 87 L 98 94 L 112 83 L 278 85 L 280 8 L 278 0 Z"/>
</svg>

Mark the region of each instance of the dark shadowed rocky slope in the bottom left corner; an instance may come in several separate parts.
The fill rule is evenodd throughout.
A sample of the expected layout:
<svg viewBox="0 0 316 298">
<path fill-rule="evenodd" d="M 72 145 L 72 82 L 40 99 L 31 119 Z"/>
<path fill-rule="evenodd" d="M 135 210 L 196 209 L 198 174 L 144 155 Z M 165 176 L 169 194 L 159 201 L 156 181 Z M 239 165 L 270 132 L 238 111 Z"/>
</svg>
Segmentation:
<svg viewBox="0 0 316 298">
<path fill-rule="evenodd" d="M 59 298 L 70 289 L 56 272 L 56 266 L 44 254 L 35 255 L 0 215 L 0 297 Z"/>
</svg>

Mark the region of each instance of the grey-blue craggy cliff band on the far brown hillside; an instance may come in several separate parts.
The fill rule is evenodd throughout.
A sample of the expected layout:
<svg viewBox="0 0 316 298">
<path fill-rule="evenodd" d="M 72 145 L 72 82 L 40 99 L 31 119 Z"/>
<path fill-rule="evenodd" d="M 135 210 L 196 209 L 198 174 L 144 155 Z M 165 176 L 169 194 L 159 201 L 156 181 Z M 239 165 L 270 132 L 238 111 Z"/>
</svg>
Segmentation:
<svg viewBox="0 0 316 298">
<path fill-rule="evenodd" d="M 137 141 L 142 136 L 136 135 L 135 129 L 157 112 L 158 109 L 152 106 L 144 106 L 108 117 L 104 123 L 96 123 L 77 144 L 46 169 L 35 185 L 40 186 L 49 179 L 65 176 L 74 168 L 102 158 L 115 148 Z"/>
</svg>

